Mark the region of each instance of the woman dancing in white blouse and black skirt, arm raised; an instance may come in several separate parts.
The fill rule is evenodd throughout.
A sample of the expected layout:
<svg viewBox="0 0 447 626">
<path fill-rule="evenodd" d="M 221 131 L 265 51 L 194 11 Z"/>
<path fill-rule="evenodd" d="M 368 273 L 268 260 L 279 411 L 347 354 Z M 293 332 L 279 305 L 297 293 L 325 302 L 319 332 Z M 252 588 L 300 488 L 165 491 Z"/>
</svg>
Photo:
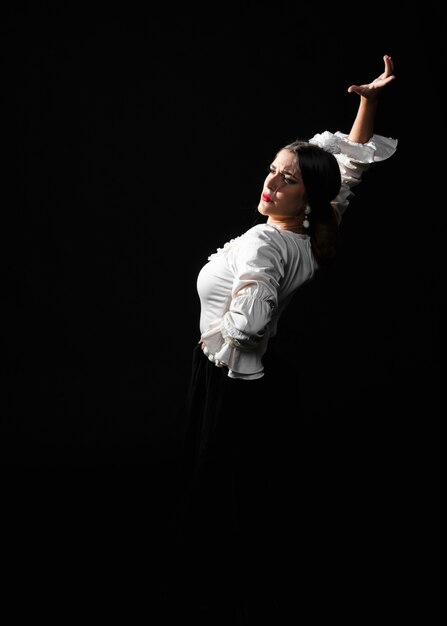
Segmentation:
<svg viewBox="0 0 447 626">
<path fill-rule="evenodd" d="M 280 149 L 258 204 L 266 220 L 211 254 L 198 276 L 201 336 L 188 391 L 179 538 L 185 563 L 202 573 L 188 593 L 201 589 L 220 607 L 230 587 L 245 601 L 263 587 L 263 563 L 274 552 L 268 538 L 281 532 L 274 525 L 272 533 L 269 508 L 287 437 L 278 399 L 293 380 L 275 376 L 269 350 L 281 314 L 335 257 L 352 188 L 397 147 L 374 134 L 380 94 L 395 78 L 391 57 L 383 61 L 371 83 L 348 89 L 360 97 L 349 135 L 326 131 Z"/>
</svg>

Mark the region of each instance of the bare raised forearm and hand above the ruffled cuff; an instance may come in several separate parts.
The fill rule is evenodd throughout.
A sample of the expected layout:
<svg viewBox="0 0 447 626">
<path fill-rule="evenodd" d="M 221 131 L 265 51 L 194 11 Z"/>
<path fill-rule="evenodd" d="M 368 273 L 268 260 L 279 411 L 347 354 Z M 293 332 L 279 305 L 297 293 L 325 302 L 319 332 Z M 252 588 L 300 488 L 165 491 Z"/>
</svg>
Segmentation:
<svg viewBox="0 0 447 626">
<path fill-rule="evenodd" d="M 385 70 L 371 83 L 365 85 L 351 85 L 349 93 L 360 96 L 359 108 L 352 125 L 348 139 L 358 143 L 367 143 L 374 134 L 374 121 L 382 89 L 395 79 L 394 65 L 390 56 L 383 57 Z"/>
</svg>

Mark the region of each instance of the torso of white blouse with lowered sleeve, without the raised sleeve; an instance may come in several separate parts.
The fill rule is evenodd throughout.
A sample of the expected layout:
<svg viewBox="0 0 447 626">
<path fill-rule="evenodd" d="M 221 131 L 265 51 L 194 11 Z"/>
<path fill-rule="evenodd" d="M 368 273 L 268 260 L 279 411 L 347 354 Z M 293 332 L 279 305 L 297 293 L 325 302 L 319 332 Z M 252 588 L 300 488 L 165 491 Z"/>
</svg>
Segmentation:
<svg viewBox="0 0 447 626">
<path fill-rule="evenodd" d="M 288 299 L 316 270 L 310 238 L 253 226 L 209 257 L 197 279 L 206 353 L 235 378 L 263 375 L 262 356 Z"/>
</svg>

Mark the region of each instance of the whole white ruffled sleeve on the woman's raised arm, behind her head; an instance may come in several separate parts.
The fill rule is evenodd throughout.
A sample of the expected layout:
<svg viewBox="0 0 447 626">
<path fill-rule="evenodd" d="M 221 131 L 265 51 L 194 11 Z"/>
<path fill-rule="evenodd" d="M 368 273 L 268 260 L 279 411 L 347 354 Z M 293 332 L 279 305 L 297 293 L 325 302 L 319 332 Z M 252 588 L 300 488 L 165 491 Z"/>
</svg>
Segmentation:
<svg viewBox="0 0 447 626">
<path fill-rule="evenodd" d="M 341 221 L 350 199 L 353 197 L 352 187 L 361 182 L 362 176 L 372 163 L 385 161 L 397 149 L 397 139 L 373 135 L 367 143 L 357 143 L 348 139 L 348 135 L 337 131 L 325 131 L 317 134 L 309 143 L 318 145 L 331 152 L 338 161 L 341 172 L 341 189 L 332 206 Z"/>
</svg>

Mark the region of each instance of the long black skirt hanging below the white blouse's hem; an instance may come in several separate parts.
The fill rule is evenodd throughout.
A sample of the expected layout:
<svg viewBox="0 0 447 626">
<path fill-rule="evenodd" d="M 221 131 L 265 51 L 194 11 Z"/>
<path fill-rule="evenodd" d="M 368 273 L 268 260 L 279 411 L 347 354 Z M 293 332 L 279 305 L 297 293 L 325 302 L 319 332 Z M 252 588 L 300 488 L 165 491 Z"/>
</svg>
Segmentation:
<svg viewBox="0 0 447 626">
<path fill-rule="evenodd" d="M 268 383 L 268 376 L 229 378 L 199 346 L 193 351 L 175 521 L 177 593 L 183 609 L 193 606 L 216 624 L 230 619 L 227 611 L 247 612 L 250 597 L 256 610 L 273 606 L 267 598 L 277 420 Z"/>
</svg>

